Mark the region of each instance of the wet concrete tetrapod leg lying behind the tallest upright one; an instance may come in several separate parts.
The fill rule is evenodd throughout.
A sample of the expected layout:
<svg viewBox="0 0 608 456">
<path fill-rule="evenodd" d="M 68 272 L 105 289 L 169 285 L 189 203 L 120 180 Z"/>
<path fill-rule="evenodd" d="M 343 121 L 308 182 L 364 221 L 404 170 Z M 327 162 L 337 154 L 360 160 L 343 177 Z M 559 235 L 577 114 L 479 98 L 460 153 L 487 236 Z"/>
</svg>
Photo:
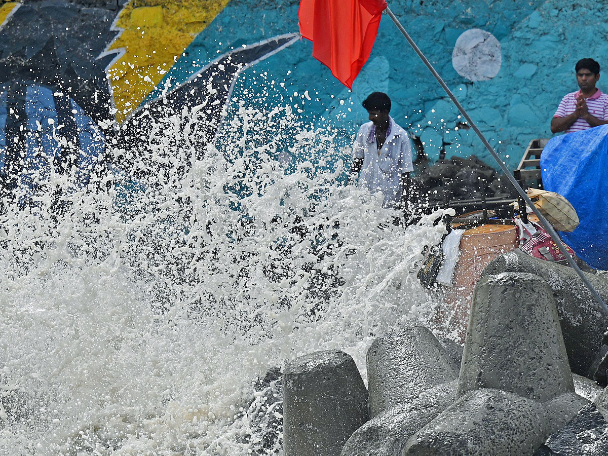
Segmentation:
<svg viewBox="0 0 608 456">
<path fill-rule="evenodd" d="M 482 277 L 501 272 L 530 272 L 547 281 L 557 302 L 570 368 L 578 375 L 593 378 L 595 369 L 601 361 L 601 340 L 608 327 L 608 317 L 593 299 L 576 271 L 514 250 L 500 255 L 488 264 L 482 272 Z M 586 274 L 586 277 L 604 302 L 607 302 L 606 276 Z"/>
</svg>

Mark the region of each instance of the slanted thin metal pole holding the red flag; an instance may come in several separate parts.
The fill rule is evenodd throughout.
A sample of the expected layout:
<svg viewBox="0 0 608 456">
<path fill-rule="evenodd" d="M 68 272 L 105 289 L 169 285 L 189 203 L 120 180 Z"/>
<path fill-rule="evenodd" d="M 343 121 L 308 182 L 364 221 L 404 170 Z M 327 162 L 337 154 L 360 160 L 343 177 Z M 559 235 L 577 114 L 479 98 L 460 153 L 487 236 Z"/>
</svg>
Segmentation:
<svg viewBox="0 0 608 456">
<path fill-rule="evenodd" d="M 582 273 L 581 268 L 578 267 L 578 264 L 576 264 L 576 261 L 574 260 L 574 258 L 572 258 L 570 256 L 570 254 L 568 254 L 568 250 L 566 250 L 564 243 L 562 243 L 562 240 L 559 238 L 558 233 L 553 229 L 553 226 L 551 226 L 551 224 L 548 223 L 547 219 L 545 219 L 544 216 L 541 214 L 541 212 L 537 209 L 537 207 L 534 206 L 534 203 L 530 200 L 530 198 L 528 198 L 528 195 L 526 195 L 526 192 L 523 191 L 523 188 L 520 187 L 519 184 L 517 184 L 517 181 L 513 177 L 513 174 L 511 174 L 511 172 L 506 167 L 506 165 L 503 163 L 503 161 L 500 159 L 500 157 L 498 156 L 496 151 L 494 151 L 494 149 L 492 148 L 492 146 L 490 145 L 488 140 L 486 140 L 486 138 L 483 136 L 482 132 L 479 131 L 479 129 L 477 128 L 477 125 L 475 125 L 475 123 L 473 122 L 471 117 L 469 117 L 469 114 L 467 114 L 467 112 L 465 111 L 465 108 L 463 108 L 462 105 L 460 104 L 460 102 L 458 102 L 457 98 L 454 96 L 454 94 L 449 89 L 449 87 L 447 87 L 446 83 L 443 81 L 443 79 L 437 73 L 437 71 L 435 71 L 435 68 L 432 66 L 432 64 L 429 62 L 429 60 L 427 60 L 427 58 L 424 56 L 424 54 L 420 50 L 420 48 L 418 46 L 416 46 L 416 43 L 414 43 L 414 41 L 412 40 L 412 37 L 406 32 L 406 29 L 403 28 L 403 26 L 401 25 L 401 22 L 399 22 L 399 19 L 397 19 L 395 17 L 395 15 L 393 14 L 393 12 L 390 10 L 389 7 L 387 7 L 385 11 L 390 16 L 390 18 L 393 20 L 393 22 L 395 22 L 395 25 L 397 26 L 399 31 L 403 34 L 403 36 L 406 37 L 407 42 L 410 44 L 410 46 L 412 46 L 412 48 L 416 52 L 416 54 L 418 54 L 418 57 L 420 57 L 420 59 L 423 61 L 423 63 L 426 65 L 426 67 L 429 69 L 429 71 L 434 75 L 435 79 L 437 79 L 437 82 L 441 85 L 441 87 L 444 89 L 444 91 L 446 91 L 446 94 L 450 97 L 450 99 L 452 100 L 454 105 L 458 108 L 458 110 L 465 117 L 466 121 L 469 123 L 471 128 L 475 131 L 475 133 L 477 134 L 479 139 L 482 140 L 483 145 L 485 145 L 486 149 L 488 149 L 489 153 L 492 155 L 492 157 L 494 157 L 496 162 L 499 164 L 500 169 L 503 171 L 503 173 L 505 173 L 506 178 L 509 179 L 509 181 L 511 182 L 513 187 L 515 187 L 515 189 L 517 190 L 517 193 L 519 193 L 519 195 L 522 196 L 523 201 L 525 201 L 526 204 L 531 207 L 534 214 L 538 217 L 539 221 L 541 222 L 542 226 L 545 228 L 545 230 L 547 230 L 547 232 L 549 233 L 549 235 L 551 236 L 553 241 L 556 244 L 558 244 L 559 249 L 561 249 L 562 252 L 564 252 L 564 255 L 566 255 L 566 257 L 568 258 L 568 262 L 570 263 L 570 266 L 572 266 L 572 268 L 578 273 L 578 275 L 581 277 L 582 282 L 584 282 L 584 284 L 587 286 L 587 288 L 589 288 L 589 291 L 593 294 L 593 297 L 595 297 L 595 300 L 599 303 L 599 305 L 603 309 L 604 313 L 608 316 L 608 306 L 606 306 L 606 303 L 601 299 L 601 297 L 599 297 L 598 292 L 595 290 L 595 288 L 593 288 L 593 285 L 591 285 L 591 283 L 589 282 L 587 277 Z M 525 210 L 525 208 L 523 208 L 523 210 Z"/>
</svg>

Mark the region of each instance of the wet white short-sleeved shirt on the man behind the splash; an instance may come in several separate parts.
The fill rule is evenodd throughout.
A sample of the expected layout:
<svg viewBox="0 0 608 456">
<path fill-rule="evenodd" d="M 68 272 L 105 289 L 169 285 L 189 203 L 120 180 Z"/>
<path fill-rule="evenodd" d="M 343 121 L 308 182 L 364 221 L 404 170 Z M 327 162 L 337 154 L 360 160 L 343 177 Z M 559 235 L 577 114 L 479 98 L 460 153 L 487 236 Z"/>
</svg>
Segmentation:
<svg viewBox="0 0 608 456">
<path fill-rule="evenodd" d="M 401 201 L 401 174 L 413 171 L 412 142 L 405 130 L 389 116 L 387 137 L 378 150 L 373 122 L 361 125 L 353 144 L 355 158 L 363 159 L 359 184 L 372 192 L 384 193 L 382 206 Z"/>
</svg>

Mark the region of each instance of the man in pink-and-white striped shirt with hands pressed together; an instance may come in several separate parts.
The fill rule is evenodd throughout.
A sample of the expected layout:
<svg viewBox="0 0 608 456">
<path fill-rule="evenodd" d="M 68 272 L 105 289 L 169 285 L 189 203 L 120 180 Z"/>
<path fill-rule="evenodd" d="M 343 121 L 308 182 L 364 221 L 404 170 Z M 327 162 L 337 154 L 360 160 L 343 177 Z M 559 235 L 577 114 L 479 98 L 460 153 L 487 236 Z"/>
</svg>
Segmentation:
<svg viewBox="0 0 608 456">
<path fill-rule="evenodd" d="M 596 88 L 599 63 L 583 58 L 576 63 L 576 82 L 579 91 L 562 98 L 551 119 L 551 132 L 572 133 L 608 123 L 608 95 Z"/>
</svg>

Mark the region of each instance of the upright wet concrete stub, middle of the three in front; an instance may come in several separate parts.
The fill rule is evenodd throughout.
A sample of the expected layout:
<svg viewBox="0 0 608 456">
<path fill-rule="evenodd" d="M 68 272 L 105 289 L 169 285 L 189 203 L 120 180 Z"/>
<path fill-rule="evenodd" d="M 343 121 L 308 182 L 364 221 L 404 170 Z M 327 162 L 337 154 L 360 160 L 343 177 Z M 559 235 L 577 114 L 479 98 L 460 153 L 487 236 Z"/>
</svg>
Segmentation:
<svg viewBox="0 0 608 456">
<path fill-rule="evenodd" d="M 456 377 L 446 350 L 427 328 L 415 326 L 379 337 L 367 351 L 370 416 Z"/>
</svg>

